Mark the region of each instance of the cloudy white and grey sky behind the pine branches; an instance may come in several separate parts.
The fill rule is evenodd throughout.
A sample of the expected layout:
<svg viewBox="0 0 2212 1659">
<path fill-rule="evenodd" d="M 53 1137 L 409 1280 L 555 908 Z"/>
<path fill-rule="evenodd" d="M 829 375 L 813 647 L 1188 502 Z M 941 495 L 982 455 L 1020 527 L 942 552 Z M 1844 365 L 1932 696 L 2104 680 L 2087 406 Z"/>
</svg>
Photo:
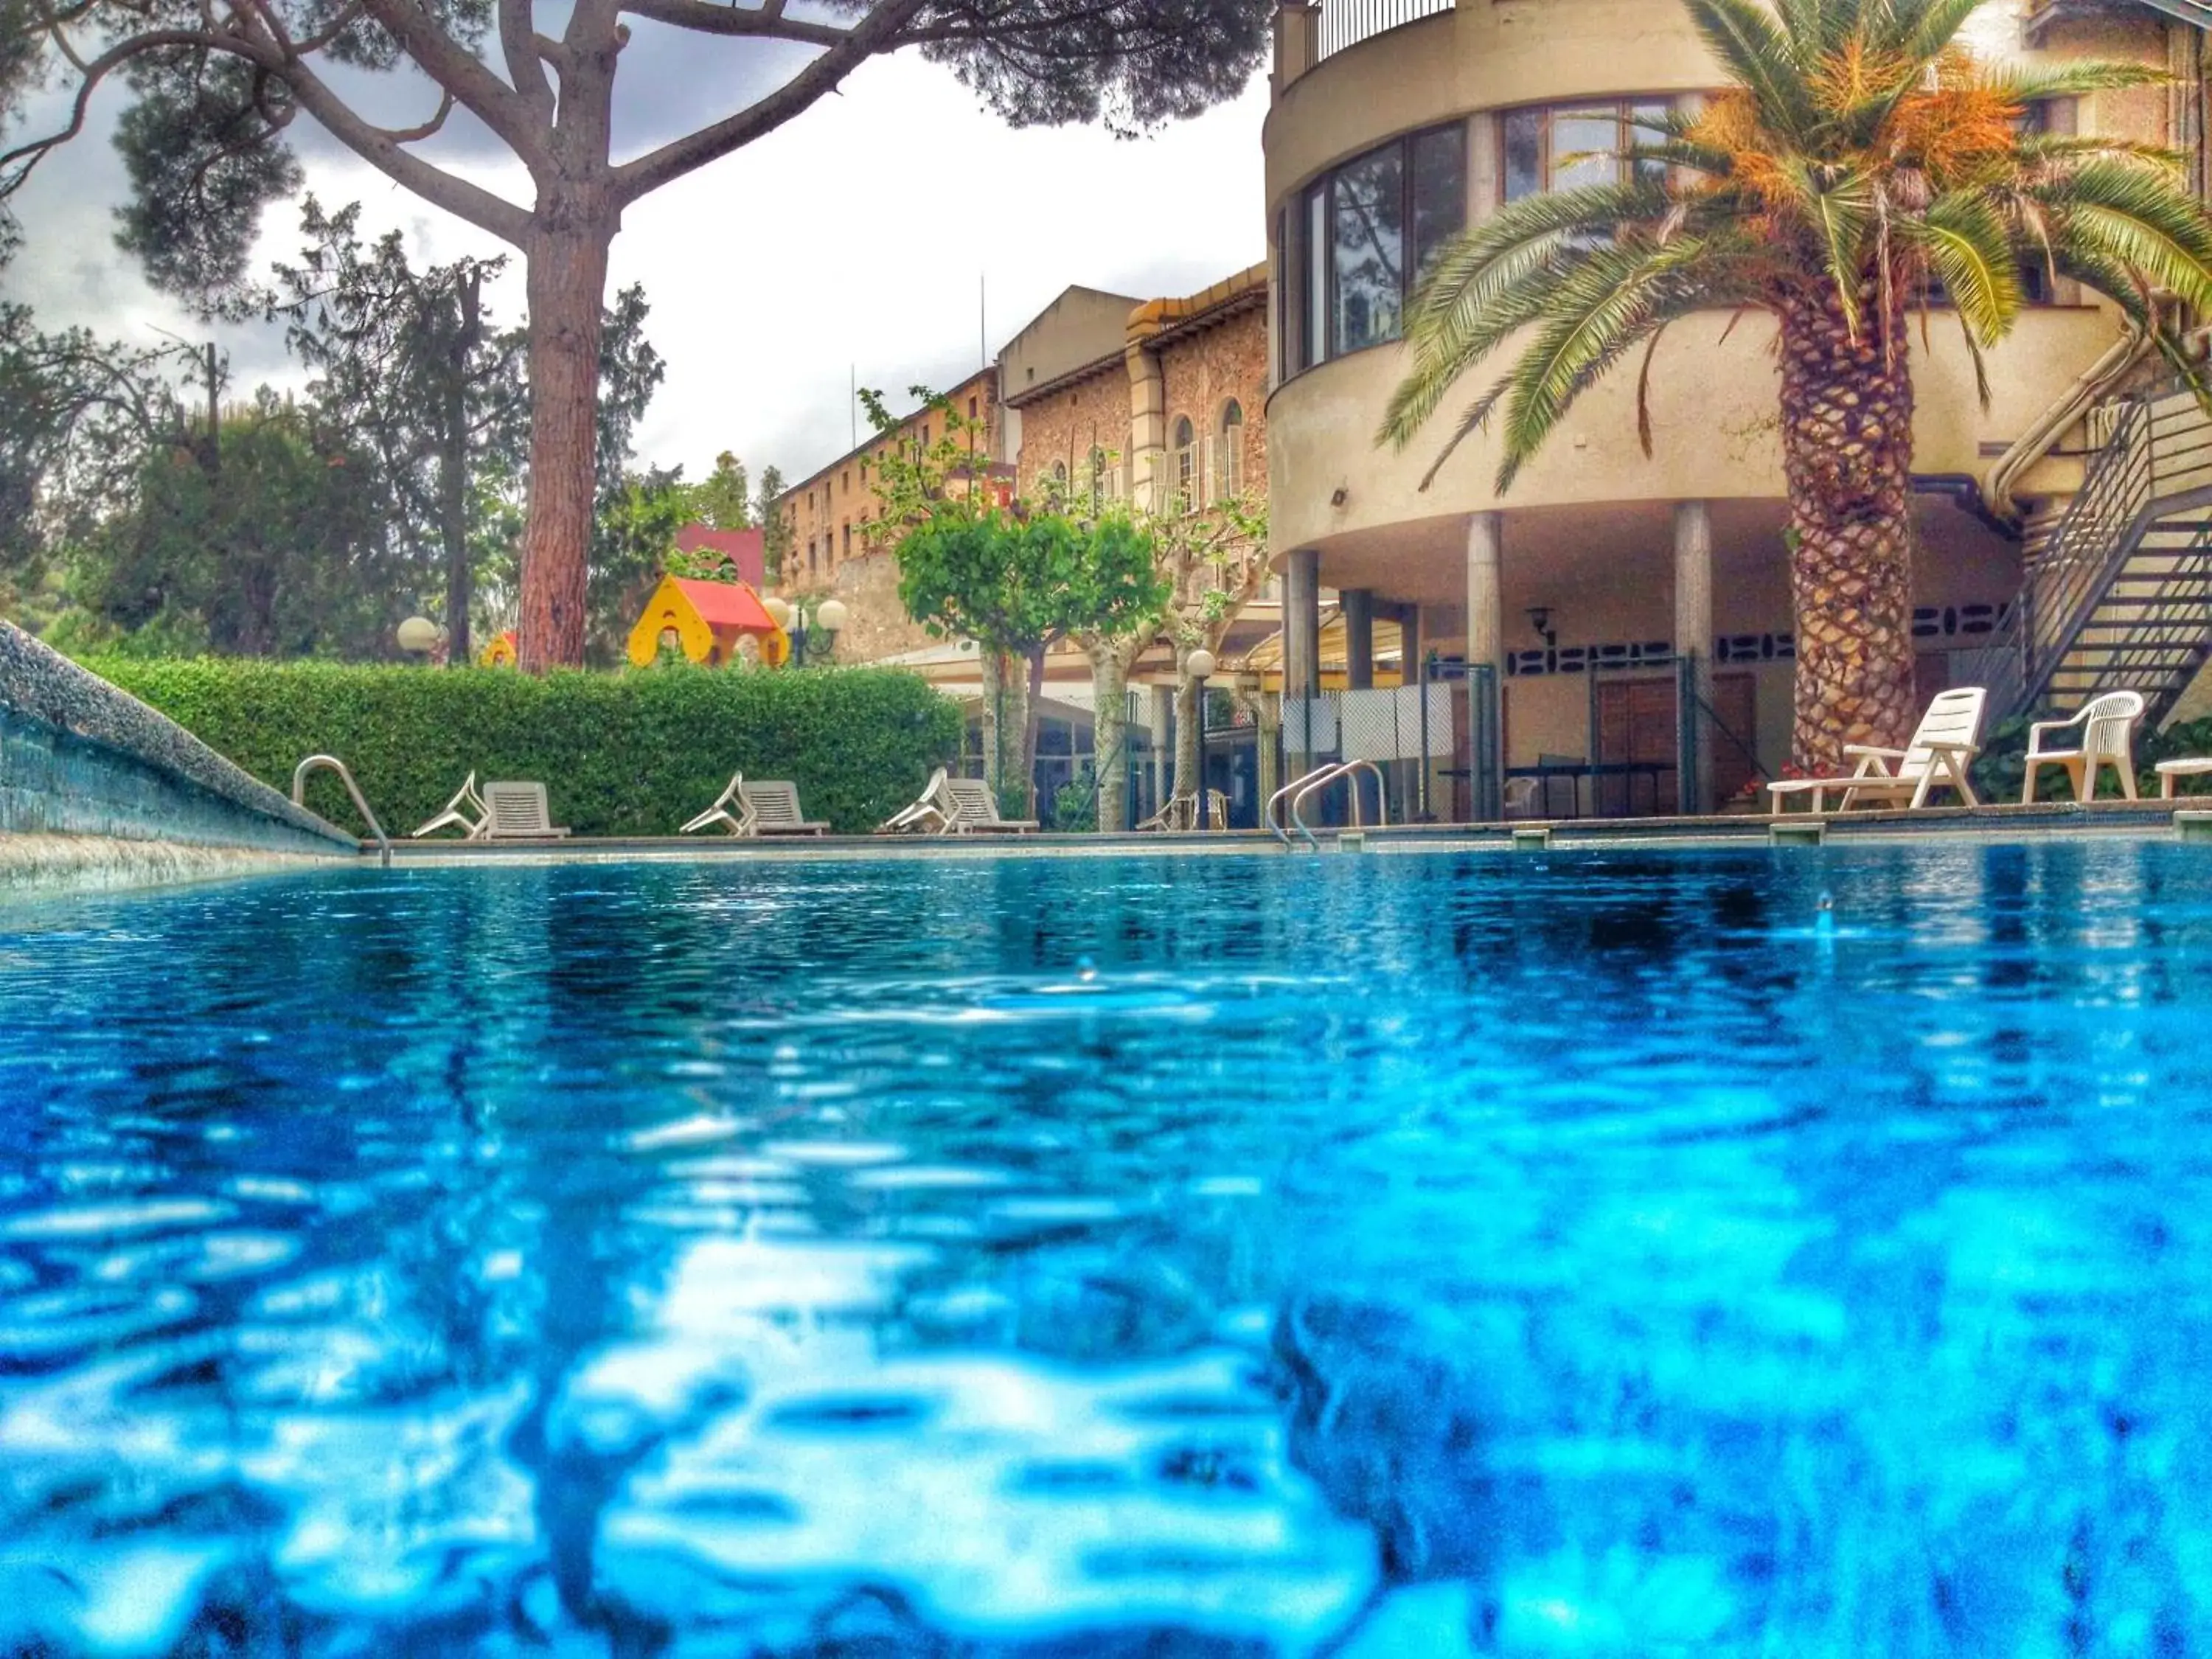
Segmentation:
<svg viewBox="0 0 2212 1659">
<path fill-rule="evenodd" d="M 617 82 L 617 153 L 714 119 L 781 80 L 799 62 L 781 51 L 641 27 Z M 44 327 L 84 323 L 148 345 L 155 330 L 206 338 L 210 330 L 148 290 L 111 239 L 122 166 L 108 131 L 122 86 L 113 93 L 18 199 L 24 252 L 0 292 L 29 301 Z M 420 119 L 431 102 L 396 77 L 361 95 L 394 122 Z M 699 478 L 734 449 L 754 476 L 774 462 L 796 480 L 849 442 L 847 374 L 902 394 L 978 365 L 978 283 L 995 352 L 1068 283 L 1183 294 L 1243 270 L 1265 252 L 1265 106 L 1259 75 L 1237 102 L 1146 139 L 1013 131 L 945 69 L 914 55 L 865 64 L 779 133 L 630 208 L 613 281 L 646 285 L 646 332 L 668 358 L 639 456 Z M 33 106 L 27 124 L 53 113 Z M 520 168 L 482 128 L 456 119 L 436 146 L 445 166 L 526 199 Z M 502 252 L 319 133 L 301 135 L 299 150 L 325 206 L 361 201 L 365 228 L 405 230 L 418 261 Z M 294 226 L 290 208 L 274 210 L 263 257 L 288 252 Z M 498 307 L 520 314 L 518 272 Z M 274 330 L 217 336 L 237 385 L 296 380 Z"/>
</svg>

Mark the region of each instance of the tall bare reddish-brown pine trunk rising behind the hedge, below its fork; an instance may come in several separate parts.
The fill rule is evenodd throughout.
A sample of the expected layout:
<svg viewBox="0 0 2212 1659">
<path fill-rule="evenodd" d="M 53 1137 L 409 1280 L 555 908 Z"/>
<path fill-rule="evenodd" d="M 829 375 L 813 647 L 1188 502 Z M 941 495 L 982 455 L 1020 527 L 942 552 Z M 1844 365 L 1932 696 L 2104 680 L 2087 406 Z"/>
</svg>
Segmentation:
<svg viewBox="0 0 2212 1659">
<path fill-rule="evenodd" d="M 529 248 L 531 507 L 515 657 L 533 675 L 584 666 L 608 217 L 584 204 L 540 206 L 546 228 Z"/>
</svg>

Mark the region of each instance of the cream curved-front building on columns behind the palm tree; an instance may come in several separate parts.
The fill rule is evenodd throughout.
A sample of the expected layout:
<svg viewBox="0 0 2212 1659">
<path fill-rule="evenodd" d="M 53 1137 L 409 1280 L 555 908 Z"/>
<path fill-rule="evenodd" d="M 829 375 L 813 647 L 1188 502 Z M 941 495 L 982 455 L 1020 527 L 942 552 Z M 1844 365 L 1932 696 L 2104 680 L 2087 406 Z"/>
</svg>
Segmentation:
<svg viewBox="0 0 2212 1659">
<path fill-rule="evenodd" d="M 2031 13 L 2000 0 L 1969 38 L 1991 58 L 2166 66 L 2185 53 L 2174 93 L 2066 100 L 2033 117 L 2194 142 L 2201 38 L 2148 7 Z M 1292 0 L 1276 15 L 1267 482 L 1285 575 L 1285 692 L 1318 686 L 1323 588 L 1343 593 L 1347 617 L 1400 619 L 1429 672 L 1464 666 L 1469 677 L 1475 739 L 1458 739 L 1458 816 L 1498 816 L 1504 781 L 1544 757 L 1562 772 L 1575 761 L 1621 768 L 1573 779 L 1577 810 L 1646 812 L 1710 810 L 1787 761 L 1792 604 L 1767 319 L 1714 314 L 1668 330 L 1650 369 L 1652 456 L 1637 442 L 1632 369 L 1588 392 L 1504 498 L 1493 491 L 1495 445 L 1480 434 L 1422 487 L 1464 400 L 1447 403 L 1433 440 L 1405 453 L 1374 442 L 1405 372 L 1407 294 L 1433 250 L 1504 201 L 1617 170 L 1624 161 L 1593 153 L 1719 82 L 1674 0 Z M 1924 692 L 1978 675 L 1971 653 L 2020 588 L 2020 535 L 1986 504 L 1991 467 L 2119 332 L 2110 310 L 2042 281 L 1991 354 L 1982 407 L 1953 321 L 1938 312 L 1924 336 L 1913 330 Z M 2024 504 L 2079 484 L 2066 447 L 2031 456 L 2024 473 L 2008 458 Z M 1363 684 L 1358 664 L 1352 684 Z M 1688 748 L 1677 730 L 1683 684 L 1712 710 Z"/>
</svg>

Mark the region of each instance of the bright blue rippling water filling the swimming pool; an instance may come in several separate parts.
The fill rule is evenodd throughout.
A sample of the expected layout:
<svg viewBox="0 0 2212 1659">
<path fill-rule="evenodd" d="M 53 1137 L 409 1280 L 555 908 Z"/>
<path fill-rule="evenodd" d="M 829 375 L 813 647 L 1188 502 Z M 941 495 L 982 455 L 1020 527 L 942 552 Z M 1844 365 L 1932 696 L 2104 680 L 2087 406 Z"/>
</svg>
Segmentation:
<svg viewBox="0 0 2212 1659">
<path fill-rule="evenodd" d="M 2148 841 L 0 911 L 0 1652 L 2208 1655 L 2208 969 Z"/>
</svg>

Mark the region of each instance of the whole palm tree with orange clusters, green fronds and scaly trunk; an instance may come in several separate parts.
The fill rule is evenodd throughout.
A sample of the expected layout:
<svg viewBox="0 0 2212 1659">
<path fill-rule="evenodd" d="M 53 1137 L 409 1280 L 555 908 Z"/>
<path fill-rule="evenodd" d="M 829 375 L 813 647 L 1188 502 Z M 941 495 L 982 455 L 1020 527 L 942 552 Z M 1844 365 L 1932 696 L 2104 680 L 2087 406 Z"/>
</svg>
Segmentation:
<svg viewBox="0 0 2212 1659">
<path fill-rule="evenodd" d="M 1683 4 L 1728 86 L 1626 146 L 1626 181 L 1524 197 L 1438 257 L 1378 442 L 1409 445 L 1462 374 L 1517 343 L 1436 462 L 1495 414 L 1502 495 L 1575 398 L 1641 345 L 1650 453 L 1659 334 L 1692 312 L 1770 312 L 1794 750 L 1798 765 L 1834 770 L 1845 743 L 1893 745 L 1913 723 L 1913 312 L 1927 330 L 1940 288 L 1986 405 L 1982 349 L 2020 314 L 2024 274 L 2070 276 L 2203 396 L 2179 312 L 2212 312 L 2212 219 L 2172 153 L 2026 131 L 2039 100 L 2161 80 L 2152 69 L 1980 64 L 1955 42 L 1980 0 Z"/>
</svg>

